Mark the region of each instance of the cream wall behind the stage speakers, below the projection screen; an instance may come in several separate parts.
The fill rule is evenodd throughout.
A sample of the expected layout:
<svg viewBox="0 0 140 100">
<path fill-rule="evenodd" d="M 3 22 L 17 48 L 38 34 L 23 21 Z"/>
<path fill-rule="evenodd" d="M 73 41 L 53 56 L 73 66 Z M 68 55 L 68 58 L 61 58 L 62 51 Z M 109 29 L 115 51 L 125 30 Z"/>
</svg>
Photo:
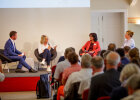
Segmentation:
<svg viewBox="0 0 140 100">
<path fill-rule="evenodd" d="M 16 30 L 17 48 L 27 57 L 34 57 L 42 34 L 58 45 L 58 57 L 65 48 L 79 49 L 89 39 L 90 8 L 24 8 L 0 9 L 0 48 L 4 47 L 9 32 Z"/>
</svg>

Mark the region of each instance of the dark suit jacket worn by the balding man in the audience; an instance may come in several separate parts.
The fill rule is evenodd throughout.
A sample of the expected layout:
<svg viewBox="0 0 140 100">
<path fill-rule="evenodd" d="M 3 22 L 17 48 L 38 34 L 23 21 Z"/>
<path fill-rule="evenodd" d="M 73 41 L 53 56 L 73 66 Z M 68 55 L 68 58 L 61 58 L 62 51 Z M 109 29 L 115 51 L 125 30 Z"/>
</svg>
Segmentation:
<svg viewBox="0 0 140 100">
<path fill-rule="evenodd" d="M 112 90 L 121 85 L 119 77 L 120 73 L 115 69 L 107 70 L 104 74 L 92 77 L 88 100 L 110 96 Z"/>
</svg>

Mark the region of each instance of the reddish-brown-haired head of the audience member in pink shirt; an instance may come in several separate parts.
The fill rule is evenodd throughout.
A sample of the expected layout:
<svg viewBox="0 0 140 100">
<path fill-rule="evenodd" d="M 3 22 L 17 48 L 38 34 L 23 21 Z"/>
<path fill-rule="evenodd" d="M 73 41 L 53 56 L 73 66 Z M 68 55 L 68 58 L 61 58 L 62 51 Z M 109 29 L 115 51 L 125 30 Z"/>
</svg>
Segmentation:
<svg viewBox="0 0 140 100">
<path fill-rule="evenodd" d="M 77 64 L 78 63 L 78 55 L 75 52 L 70 52 L 68 54 L 68 60 L 71 63 L 71 65 L 73 64 Z"/>
</svg>

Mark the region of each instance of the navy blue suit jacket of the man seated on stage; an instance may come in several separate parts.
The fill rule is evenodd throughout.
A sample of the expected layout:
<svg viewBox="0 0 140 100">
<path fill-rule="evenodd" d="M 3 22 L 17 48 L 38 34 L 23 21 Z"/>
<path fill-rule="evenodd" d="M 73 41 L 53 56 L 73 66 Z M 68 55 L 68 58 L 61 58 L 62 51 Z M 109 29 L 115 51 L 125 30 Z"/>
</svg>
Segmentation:
<svg viewBox="0 0 140 100">
<path fill-rule="evenodd" d="M 11 39 L 8 39 L 8 41 L 5 44 L 4 47 L 4 55 L 5 56 L 18 56 L 19 54 L 22 54 L 20 51 L 18 51 L 15 47 L 14 51 L 14 45 L 11 41 Z"/>
</svg>

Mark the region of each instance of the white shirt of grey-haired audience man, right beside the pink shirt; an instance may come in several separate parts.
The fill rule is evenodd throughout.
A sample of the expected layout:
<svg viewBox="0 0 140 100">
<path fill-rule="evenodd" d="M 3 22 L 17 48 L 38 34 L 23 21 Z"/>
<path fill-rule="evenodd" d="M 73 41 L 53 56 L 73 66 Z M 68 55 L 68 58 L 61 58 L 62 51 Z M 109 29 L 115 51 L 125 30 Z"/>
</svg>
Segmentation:
<svg viewBox="0 0 140 100">
<path fill-rule="evenodd" d="M 65 84 L 64 91 L 67 92 L 73 83 L 81 82 L 91 77 L 92 77 L 91 68 L 82 68 L 79 72 L 72 73 Z"/>
</svg>

